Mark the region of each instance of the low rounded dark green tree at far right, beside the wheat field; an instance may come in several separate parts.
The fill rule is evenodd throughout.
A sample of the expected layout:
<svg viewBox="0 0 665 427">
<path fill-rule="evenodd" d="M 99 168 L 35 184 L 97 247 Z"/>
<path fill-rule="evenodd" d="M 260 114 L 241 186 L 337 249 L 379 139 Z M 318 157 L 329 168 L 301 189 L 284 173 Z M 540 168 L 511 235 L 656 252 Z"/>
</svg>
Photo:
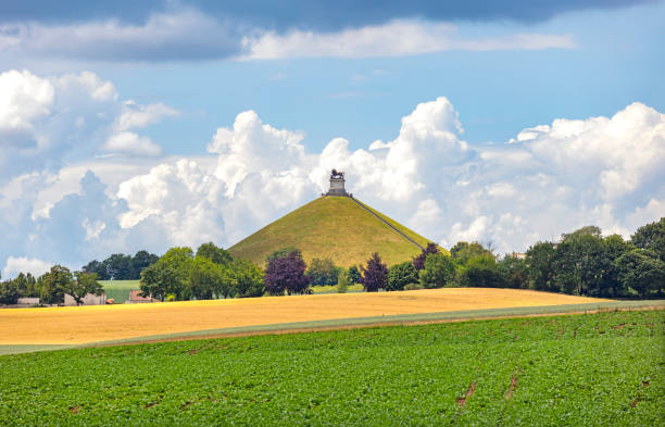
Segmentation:
<svg viewBox="0 0 665 427">
<path fill-rule="evenodd" d="M 616 260 L 623 286 L 633 289 L 639 297 L 665 292 L 665 262 L 655 252 L 633 249 Z"/>
</svg>

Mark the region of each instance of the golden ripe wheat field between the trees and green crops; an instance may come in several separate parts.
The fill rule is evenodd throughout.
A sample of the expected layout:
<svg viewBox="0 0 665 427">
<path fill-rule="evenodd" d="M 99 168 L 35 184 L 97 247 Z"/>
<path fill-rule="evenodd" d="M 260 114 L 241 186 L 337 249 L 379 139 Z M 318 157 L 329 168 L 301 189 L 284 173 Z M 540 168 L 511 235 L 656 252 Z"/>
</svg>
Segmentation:
<svg viewBox="0 0 665 427">
<path fill-rule="evenodd" d="M 600 302 L 514 289 L 448 288 L 152 304 L 0 310 L 0 346 L 80 344 L 238 326 Z"/>
</svg>

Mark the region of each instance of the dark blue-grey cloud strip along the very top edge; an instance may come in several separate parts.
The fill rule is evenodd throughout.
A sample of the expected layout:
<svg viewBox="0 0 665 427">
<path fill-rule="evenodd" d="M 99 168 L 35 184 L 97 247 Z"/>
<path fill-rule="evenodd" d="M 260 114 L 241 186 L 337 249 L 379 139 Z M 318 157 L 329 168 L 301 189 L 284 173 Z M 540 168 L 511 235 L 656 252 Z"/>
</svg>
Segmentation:
<svg viewBox="0 0 665 427">
<path fill-rule="evenodd" d="M 431 21 L 541 22 L 557 14 L 587 10 L 615 9 L 656 0 L 21 0 L 0 2 L 0 21 L 39 21 L 72 23 L 117 18 L 127 23 L 143 22 L 151 13 L 165 8 L 191 7 L 219 18 L 238 20 L 249 25 L 278 30 L 336 30 L 393 18 L 422 17 Z"/>
</svg>

